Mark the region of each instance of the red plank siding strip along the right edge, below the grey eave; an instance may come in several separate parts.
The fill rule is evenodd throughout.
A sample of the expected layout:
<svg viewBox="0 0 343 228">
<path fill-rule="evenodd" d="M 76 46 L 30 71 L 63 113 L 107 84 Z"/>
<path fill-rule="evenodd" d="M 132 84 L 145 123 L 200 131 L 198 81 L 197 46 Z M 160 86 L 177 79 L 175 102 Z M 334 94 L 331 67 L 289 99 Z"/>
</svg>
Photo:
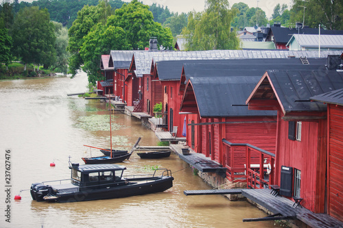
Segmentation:
<svg viewBox="0 0 343 228">
<path fill-rule="evenodd" d="M 343 221 L 343 107 L 329 105 L 329 214 Z"/>
</svg>

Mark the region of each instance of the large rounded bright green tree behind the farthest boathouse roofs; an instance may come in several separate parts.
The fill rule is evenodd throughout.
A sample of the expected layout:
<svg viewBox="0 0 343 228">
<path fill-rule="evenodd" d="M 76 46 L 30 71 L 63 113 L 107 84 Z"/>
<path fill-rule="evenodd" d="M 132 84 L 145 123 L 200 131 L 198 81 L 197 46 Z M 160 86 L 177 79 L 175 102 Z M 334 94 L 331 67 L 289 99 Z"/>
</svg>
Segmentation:
<svg viewBox="0 0 343 228">
<path fill-rule="evenodd" d="M 115 14 L 108 18 L 108 24 L 121 27 L 125 31 L 123 38 L 128 40 L 134 50 L 149 47 L 149 39 L 157 37 L 163 47 L 171 47 L 173 36 L 169 28 L 163 28 L 160 23 L 154 22 L 152 12 L 147 5 L 132 0 L 128 5 L 115 10 Z"/>
</svg>

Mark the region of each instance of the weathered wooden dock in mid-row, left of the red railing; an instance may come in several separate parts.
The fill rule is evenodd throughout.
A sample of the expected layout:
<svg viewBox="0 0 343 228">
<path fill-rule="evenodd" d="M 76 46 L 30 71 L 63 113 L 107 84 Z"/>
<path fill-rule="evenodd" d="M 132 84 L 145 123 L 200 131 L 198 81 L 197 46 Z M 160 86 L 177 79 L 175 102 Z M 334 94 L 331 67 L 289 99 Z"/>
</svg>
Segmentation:
<svg viewBox="0 0 343 228">
<path fill-rule="evenodd" d="M 189 153 L 189 155 L 182 155 L 182 146 L 178 144 L 171 144 L 170 149 L 174 151 L 178 156 L 193 166 L 194 168 L 198 169 L 202 173 L 218 173 L 223 177 L 226 176 L 226 168 L 224 168 L 221 164 L 211 160 L 209 157 L 205 157 L 201 153 Z"/>
</svg>

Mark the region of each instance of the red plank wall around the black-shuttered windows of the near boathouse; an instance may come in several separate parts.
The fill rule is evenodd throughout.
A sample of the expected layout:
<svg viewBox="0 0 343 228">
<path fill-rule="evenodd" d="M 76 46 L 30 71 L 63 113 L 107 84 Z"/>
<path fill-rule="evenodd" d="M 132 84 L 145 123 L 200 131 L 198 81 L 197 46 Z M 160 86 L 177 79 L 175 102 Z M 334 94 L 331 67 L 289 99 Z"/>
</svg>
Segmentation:
<svg viewBox="0 0 343 228">
<path fill-rule="evenodd" d="M 288 122 L 279 121 L 276 184 L 280 185 L 281 166 L 301 170 L 302 205 L 316 213 L 324 212 L 326 129 L 326 120 L 302 121 L 301 141 L 289 140 Z"/>
</svg>

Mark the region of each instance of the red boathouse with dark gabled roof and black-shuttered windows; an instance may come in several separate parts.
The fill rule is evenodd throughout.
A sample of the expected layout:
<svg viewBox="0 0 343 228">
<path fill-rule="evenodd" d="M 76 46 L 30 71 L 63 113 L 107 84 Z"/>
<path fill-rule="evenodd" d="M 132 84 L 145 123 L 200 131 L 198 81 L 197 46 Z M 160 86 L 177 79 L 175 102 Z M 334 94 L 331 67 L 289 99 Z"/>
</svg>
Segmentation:
<svg viewBox="0 0 343 228">
<path fill-rule="evenodd" d="M 315 213 L 327 201 L 327 106 L 309 101 L 340 88 L 335 70 L 267 71 L 246 101 L 249 110 L 277 110 L 275 183 Z"/>
</svg>

